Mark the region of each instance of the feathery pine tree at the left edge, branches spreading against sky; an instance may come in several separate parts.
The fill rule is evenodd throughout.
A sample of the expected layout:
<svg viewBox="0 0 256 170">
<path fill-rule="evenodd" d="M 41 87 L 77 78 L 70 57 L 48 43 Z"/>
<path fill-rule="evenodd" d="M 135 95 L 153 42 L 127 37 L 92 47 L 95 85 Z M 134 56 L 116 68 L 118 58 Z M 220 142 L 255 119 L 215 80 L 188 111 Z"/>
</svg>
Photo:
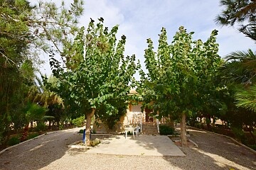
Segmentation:
<svg viewBox="0 0 256 170">
<path fill-rule="evenodd" d="M 78 30 L 82 1 L 75 0 L 68 8 L 53 2 L 31 6 L 26 0 L 0 0 L 0 142 L 9 134 L 12 118 L 26 103 L 33 84 L 38 50 L 61 50 Z M 18 104 L 17 104 L 18 103 Z M 14 114 L 15 116 L 11 115 Z"/>
</svg>

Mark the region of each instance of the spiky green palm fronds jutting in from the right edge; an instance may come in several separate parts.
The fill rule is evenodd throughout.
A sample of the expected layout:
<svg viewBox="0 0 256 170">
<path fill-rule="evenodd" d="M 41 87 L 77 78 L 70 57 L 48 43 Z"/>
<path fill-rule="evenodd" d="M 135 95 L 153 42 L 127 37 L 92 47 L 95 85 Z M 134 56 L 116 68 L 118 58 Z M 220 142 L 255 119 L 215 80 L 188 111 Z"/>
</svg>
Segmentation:
<svg viewBox="0 0 256 170">
<path fill-rule="evenodd" d="M 226 57 L 223 68 L 225 79 L 228 83 L 237 84 L 237 106 L 244 107 L 250 111 L 256 111 L 255 107 L 255 82 L 256 82 L 256 52 L 247 50 L 245 52 L 232 52 Z M 240 86 L 243 84 L 243 86 Z"/>
</svg>

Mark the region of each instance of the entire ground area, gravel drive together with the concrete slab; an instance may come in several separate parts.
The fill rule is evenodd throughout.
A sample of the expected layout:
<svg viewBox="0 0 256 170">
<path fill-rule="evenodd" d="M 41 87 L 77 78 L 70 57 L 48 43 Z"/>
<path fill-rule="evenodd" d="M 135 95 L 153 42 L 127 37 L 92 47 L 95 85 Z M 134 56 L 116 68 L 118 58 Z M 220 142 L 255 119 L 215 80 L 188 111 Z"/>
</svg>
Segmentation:
<svg viewBox="0 0 256 170">
<path fill-rule="evenodd" d="M 189 130 L 198 148 L 177 149 L 166 137 L 142 135 L 135 140 L 112 137 L 87 152 L 68 148 L 81 140 L 79 130 L 50 133 L 9 148 L 0 154 L 0 169 L 256 169 L 254 152 L 202 130 Z M 186 156 L 170 156 L 174 153 Z"/>
</svg>

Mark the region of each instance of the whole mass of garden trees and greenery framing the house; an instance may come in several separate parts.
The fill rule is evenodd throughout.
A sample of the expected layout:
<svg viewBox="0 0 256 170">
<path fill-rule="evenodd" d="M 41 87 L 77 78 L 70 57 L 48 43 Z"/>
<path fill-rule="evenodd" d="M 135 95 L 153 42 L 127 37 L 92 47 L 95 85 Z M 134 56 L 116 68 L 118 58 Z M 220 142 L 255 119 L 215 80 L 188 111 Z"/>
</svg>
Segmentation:
<svg viewBox="0 0 256 170">
<path fill-rule="evenodd" d="M 233 26 L 239 20 L 244 24 L 240 33 L 255 41 L 251 4 L 227 2 L 233 5 L 222 4 L 225 10 L 216 22 Z M 137 101 L 143 102 L 142 110 L 153 109 L 156 117 L 178 121 L 183 147 L 187 123 L 255 148 L 255 51 L 221 57 L 218 30 L 203 41 L 194 40 L 194 33 L 183 26 L 169 39 L 162 28 L 157 46 L 146 39 L 142 67 L 135 55 L 124 57 L 127 37 L 117 38 L 118 25 L 108 28 L 104 18 L 91 18 L 87 27 L 80 27 L 82 5 L 75 0 L 68 9 L 40 2 L 32 8 L 25 0 L 0 1 L 1 147 L 85 120 L 89 146 L 93 119 L 111 130 L 125 115 L 129 101 Z M 248 11 L 236 13 L 244 9 Z M 48 55 L 50 77 L 38 72 L 41 52 Z M 136 73 L 139 79 L 134 78 Z M 138 94 L 128 95 L 131 89 Z M 223 125 L 215 125 L 216 120 Z"/>
</svg>

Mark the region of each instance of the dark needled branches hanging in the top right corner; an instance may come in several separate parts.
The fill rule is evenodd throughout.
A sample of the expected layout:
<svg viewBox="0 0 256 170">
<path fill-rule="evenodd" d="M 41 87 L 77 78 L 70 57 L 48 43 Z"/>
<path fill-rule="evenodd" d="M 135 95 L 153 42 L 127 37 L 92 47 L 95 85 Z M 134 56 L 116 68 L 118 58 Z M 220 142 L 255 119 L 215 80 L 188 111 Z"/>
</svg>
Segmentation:
<svg viewBox="0 0 256 170">
<path fill-rule="evenodd" d="M 235 23 L 245 23 L 238 30 L 256 41 L 256 2 L 254 0 L 221 0 L 225 9 L 215 18 L 222 26 L 234 26 Z"/>
</svg>

